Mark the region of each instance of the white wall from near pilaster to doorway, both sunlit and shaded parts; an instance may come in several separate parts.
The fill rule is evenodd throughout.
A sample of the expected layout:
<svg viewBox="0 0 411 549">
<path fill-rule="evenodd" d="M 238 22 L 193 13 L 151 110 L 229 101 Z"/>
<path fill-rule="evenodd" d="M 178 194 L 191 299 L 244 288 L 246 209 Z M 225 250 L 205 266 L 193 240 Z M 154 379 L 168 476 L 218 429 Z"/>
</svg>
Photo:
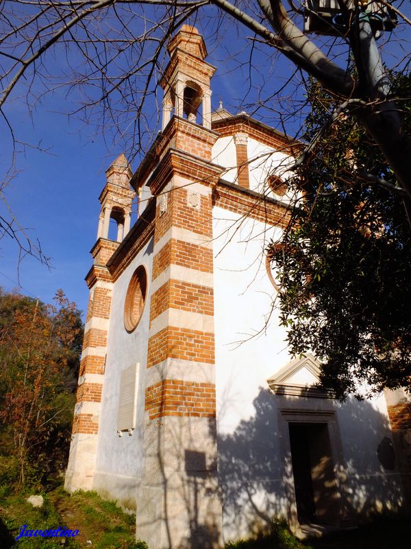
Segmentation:
<svg viewBox="0 0 411 549">
<path fill-rule="evenodd" d="M 286 517 L 282 454 L 279 438 L 271 436 L 278 432 L 277 416 L 266 379 L 290 358 L 277 312 L 271 312 L 275 290 L 265 270 L 264 248 L 279 230 L 241 222 L 220 208 L 213 218 L 219 482 L 228 541 L 249 535 L 258 521 L 253 507 Z"/>
</svg>

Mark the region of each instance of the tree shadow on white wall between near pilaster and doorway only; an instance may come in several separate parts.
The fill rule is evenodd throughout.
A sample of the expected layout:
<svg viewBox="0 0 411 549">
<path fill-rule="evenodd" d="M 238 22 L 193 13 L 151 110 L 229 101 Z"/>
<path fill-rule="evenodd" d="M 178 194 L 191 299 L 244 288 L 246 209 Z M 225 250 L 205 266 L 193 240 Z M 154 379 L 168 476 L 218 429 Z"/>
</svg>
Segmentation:
<svg viewBox="0 0 411 549">
<path fill-rule="evenodd" d="M 273 430 L 273 394 L 260 390 L 255 415 L 241 421 L 231 435 L 219 436 L 219 485 L 223 520 L 229 531 L 247 535 L 269 526 L 274 517 L 286 518 L 286 495 L 279 474 L 282 456 L 279 434 Z"/>
</svg>

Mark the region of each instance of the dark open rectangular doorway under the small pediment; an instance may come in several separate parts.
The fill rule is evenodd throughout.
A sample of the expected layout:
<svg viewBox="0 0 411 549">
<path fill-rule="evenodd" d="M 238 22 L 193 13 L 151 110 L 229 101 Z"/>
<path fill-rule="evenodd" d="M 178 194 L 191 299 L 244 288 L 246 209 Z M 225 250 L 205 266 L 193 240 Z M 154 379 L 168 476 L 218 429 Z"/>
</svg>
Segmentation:
<svg viewBox="0 0 411 549">
<path fill-rule="evenodd" d="M 300 524 L 338 524 L 338 494 L 327 423 L 288 423 Z"/>
</svg>

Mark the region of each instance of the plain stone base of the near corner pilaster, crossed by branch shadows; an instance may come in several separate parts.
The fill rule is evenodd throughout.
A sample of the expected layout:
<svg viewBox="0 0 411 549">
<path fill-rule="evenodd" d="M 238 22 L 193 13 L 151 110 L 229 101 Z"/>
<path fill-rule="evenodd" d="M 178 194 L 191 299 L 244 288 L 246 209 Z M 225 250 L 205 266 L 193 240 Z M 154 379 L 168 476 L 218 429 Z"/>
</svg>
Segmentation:
<svg viewBox="0 0 411 549">
<path fill-rule="evenodd" d="M 221 548 L 215 419 L 191 419 L 162 417 L 145 432 L 142 482 L 148 491 L 139 502 L 145 515 L 137 517 L 137 537 L 149 547 Z"/>
</svg>

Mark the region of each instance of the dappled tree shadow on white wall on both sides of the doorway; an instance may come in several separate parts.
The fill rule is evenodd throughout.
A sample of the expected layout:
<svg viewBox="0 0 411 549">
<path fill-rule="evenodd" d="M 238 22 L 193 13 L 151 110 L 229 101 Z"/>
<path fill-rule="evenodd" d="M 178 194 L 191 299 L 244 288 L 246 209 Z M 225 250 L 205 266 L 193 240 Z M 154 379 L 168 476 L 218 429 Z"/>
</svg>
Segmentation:
<svg viewBox="0 0 411 549">
<path fill-rule="evenodd" d="M 350 520 L 361 522 L 373 515 L 393 514 L 401 509 L 403 495 L 388 418 L 370 401 L 348 399 L 340 404 L 331 399 L 273 395 L 261 388 L 253 407 L 255 414 L 251 419 L 241 421 L 232 434 L 218 438 L 219 485 L 226 536 L 236 533 L 238 538 L 238 535 L 264 529 L 275 517 L 290 520 L 292 506 L 297 517 L 291 465 L 295 466 L 295 455 L 291 456 L 288 425 L 283 423 L 283 428 L 279 428 L 282 410 L 298 408 L 300 412 L 311 410 L 313 413 L 319 408 L 334 412 L 330 417 L 336 418 L 342 449 L 342 452 L 335 447 L 331 450 L 339 524 L 349 524 Z M 316 421 L 314 416 L 310 421 Z M 288 440 L 284 440 L 286 437 Z M 321 482 L 325 490 L 329 487 L 329 470 L 325 467 L 321 470 L 321 457 L 318 463 L 315 482 L 315 467 L 311 469 L 314 499 Z M 301 522 L 301 515 L 298 516 Z M 318 513 L 316 518 L 319 519 Z"/>
</svg>

